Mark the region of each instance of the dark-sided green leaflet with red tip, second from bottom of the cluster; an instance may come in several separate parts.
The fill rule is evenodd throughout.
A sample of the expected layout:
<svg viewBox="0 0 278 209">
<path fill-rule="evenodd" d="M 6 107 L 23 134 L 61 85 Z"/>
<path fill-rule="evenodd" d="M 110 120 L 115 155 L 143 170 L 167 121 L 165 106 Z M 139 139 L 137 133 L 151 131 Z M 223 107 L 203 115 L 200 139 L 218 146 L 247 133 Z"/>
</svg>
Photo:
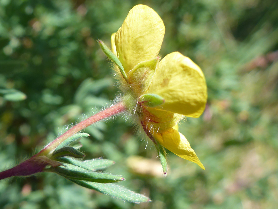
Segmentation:
<svg viewBox="0 0 278 209">
<path fill-rule="evenodd" d="M 89 171 L 75 165 L 65 164 L 64 167 L 59 166 L 53 170 L 61 176 L 69 179 L 86 180 L 100 183 L 114 183 L 124 181 L 122 176 L 113 175 L 110 173 Z"/>
</svg>

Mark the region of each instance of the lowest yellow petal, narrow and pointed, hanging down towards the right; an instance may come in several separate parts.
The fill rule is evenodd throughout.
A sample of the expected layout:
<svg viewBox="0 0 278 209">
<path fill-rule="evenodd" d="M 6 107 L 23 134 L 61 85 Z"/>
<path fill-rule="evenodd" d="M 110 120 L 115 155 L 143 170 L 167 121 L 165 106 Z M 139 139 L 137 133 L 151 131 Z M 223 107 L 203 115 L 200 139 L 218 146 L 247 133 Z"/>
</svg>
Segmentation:
<svg viewBox="0 0 278 209">
<path fill-rule="evenodd" d="M 205 169 L 187 139 L 177 130 L 171 128 L 163 133 L 155 133 L 154 137 L 166 149 L 183 159 L 197 163 L 202 169 Z"/>
</svg>

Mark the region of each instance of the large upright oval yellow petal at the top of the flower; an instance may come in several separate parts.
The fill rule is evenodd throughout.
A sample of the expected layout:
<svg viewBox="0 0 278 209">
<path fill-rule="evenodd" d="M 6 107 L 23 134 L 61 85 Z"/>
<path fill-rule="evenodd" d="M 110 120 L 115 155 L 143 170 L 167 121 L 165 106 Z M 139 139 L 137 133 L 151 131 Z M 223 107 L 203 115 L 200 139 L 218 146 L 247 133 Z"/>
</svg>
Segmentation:
<svg viewBox="0 0 278 209">
<path fill-rule="evenodd" d="M 118 57 L 126 73 L 158 55 L 164 33 L 163 21 L 152 8 L 136 5 L 129 11 L 115 36 Z"/>
</svg>

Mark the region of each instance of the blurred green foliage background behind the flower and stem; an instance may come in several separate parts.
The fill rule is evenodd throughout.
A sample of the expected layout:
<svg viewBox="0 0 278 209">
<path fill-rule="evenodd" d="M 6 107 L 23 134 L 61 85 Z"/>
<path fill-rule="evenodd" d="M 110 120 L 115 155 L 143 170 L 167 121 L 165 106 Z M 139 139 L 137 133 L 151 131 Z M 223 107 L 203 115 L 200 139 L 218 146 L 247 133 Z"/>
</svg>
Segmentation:
<svg viewBox="0 0 278 209">
<path fill-rule="evenodd" d="M 277 0 L 1 0 L 0 170 L 116 98 L 111 64 L 95 40 L 109 45 L 140 3 L 164 21 L 162 57 L 179 51 L 206 76 L 204 114 L 180 125 L 206 170 L 168 152 L 170 172 L 159 175 L 154 148 L 116 117 L 87 128 L 81 150 L 114 160 L 107 171 L 153 202 L 125 203 L 41 173 L 2 180 L 0 208 L 277 207 Z M 134 155 L 151 159 L 141 167 L 150 171 L 139 163 L 132 171 Z"/>
</svg>

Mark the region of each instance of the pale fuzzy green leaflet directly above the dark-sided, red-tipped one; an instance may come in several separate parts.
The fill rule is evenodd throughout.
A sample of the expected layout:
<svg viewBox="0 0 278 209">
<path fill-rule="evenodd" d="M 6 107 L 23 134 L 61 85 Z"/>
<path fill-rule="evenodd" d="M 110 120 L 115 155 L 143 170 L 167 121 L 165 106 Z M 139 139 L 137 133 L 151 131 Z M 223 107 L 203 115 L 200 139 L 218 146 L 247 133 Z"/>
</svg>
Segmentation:
<svg viewBox="0 0 278 209">
<path fill-rule="evenodd" d="M 92 171 L 93 170 L 102 170 L 115 163 L 114 161 L 108 160 L 108 159 L 91 159 L 91 160 L 80 161 L 77 159 L 62 157 L 57 160 L 64 162 L 64 163 L 69 163 L 71 165 L 75 165 L 75 166 L 78 166 L 81 168 L 92 170 Z"/>
</svg>

